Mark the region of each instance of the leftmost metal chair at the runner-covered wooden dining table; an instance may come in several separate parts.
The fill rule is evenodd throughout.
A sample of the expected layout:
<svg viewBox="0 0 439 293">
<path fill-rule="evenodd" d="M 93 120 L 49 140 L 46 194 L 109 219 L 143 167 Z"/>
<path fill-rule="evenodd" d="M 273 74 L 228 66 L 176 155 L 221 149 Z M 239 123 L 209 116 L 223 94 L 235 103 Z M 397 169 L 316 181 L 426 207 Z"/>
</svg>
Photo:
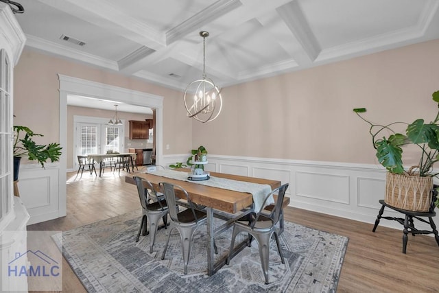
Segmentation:
<svg viewBox="0 0 439 293">
<path fill-rule="evenodd" d="M 163 219 L 164 228 L 167 226 L 167 213 L 168 207 L 166 200 L 160 200 L 157 198 L 156 190 L 150 183 L 150 181 L 140 178 L 138 176 L 133 176 L 134 181 L 137 185 L 137 191 L 139 193 L 140 203 L 142 206 L 143 216 L 137 233 L 136 242 L 139 242 L 140 233 L 143 230 L 143 236 L 147 235 L 147 220 L 150 220 L 150 253 L 152 253 L 152 248 L 154 242 L 156 241 L 156 233 L 158 229 L 158 221 Z M 152 203 L 150 203 L 152 199 Z"/>
</svg>

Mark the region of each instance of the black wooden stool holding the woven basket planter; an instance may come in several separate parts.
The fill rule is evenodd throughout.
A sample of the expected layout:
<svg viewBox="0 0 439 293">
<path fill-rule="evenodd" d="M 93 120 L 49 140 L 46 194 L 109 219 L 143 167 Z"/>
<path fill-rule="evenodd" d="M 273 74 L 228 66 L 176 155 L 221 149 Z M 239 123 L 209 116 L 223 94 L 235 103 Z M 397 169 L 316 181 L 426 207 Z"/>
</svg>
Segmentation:
<svg viewBox="0 0 439 293">
<path fill-rule="evenodd" d="M 377 220 L 375 220 L 375 225 L 373 226 L 372 232 L 375 232 L 377 230 L 377 226 L 379 224 L 379 220 L 385 219 L 385 220 L 394 220 L 396 222 L 399 222 L 399 224 L 404 226 L 403 230 L 403 253 L 405 253 L 407 249 L 407 240 L 408 240 L 408 234 L 412 233 L 412 235 L 416 234 L 434 234 L 434 238 L 436 239 L 436 242 L 439 246 L 439 235 L 438 230 L 436 229 L 436 224 L 433 222 L 433 217 L 436 216 L 436 212 L 434 211 L 435 205 L 434 202 L 436 202 L 437 197 L 437 191 L 436 188 L 438 186 L 435 185 L 431 200 L 431 206 L 429 211 L 426 212 L 420 212 L 420 211 L 407 211 L 405 209 L 399 209 L 397 207 L 392 207 L 390 204 L 387 204 L 384 202 L 384 200 L 379 200 L 379 203 L 381 204 L 381 209 L 379 210 L 379 213 L 377 215 Z M 390 209 L 393 209 L 394 211 L 398 211 L 399 213 L 403 213 L 405 215 L 405 218 L 397 218 L 397 217 L 387 217 L 383 216 L 384 208 L 388 207 Z M 423 218 L 428 218 L 428 221 Z M 431 226 L 431 231 L 429 230 L 418 230 L 414 226 L 414 219 L 419 220 L 420 222 L 427 223 Z"/>
</svg>

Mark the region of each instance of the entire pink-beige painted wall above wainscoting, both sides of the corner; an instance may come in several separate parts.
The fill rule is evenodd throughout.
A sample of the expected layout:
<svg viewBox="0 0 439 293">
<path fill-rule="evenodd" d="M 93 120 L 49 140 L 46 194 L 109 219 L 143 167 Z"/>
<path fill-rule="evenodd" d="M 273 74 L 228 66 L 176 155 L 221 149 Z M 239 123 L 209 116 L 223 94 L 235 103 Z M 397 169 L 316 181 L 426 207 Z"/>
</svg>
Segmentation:
<svg viewBox="0 0 439 293">
<path fill-rule="evenodd" d="M 164 154 L 202 144 L 211 154 L 376 163 L 368 126 L 352 109 L 366 107 L 383 124 L 434 119 L 439 40 L 224 88 L 223 113 L 207 124 L 186 117 L 178 91 L 25 49 L 14 75 L 15 124 L 46 141 L 58 141 L 57 73 L 164 96 Z"/>
</svg>

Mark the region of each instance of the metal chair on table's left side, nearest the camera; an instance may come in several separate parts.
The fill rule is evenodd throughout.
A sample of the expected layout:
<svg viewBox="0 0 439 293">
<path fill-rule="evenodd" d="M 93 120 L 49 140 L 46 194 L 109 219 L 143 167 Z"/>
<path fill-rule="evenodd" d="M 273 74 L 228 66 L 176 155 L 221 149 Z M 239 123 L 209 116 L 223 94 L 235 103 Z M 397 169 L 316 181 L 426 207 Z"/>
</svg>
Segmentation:
<svg viewBox="0 0 439 293">
<path fill-rule="evenodd" d="M 169 216 L 171 217 L 171 224 L 169 228 L 169 235 L 167 237 L 167 242 L 165 245 L 165 249 L 163 250 L 162 260 L 165 259 L 165 254 L 167 250 L 167 246 L 169 244 L 169 238 L 171 237 L 171 232 L 176 228 L 178 233 L 180 233 L 180 239 L 182 244 L 183 251 L 183 262 L 185 264 L 184 273 L 187 274 L 187 265 L 189 263 L 189 255 L 191 253 L 191 244 L 192 237 L 195 233 L 196 229 L 204 224 L 207 220 L 207 215 L 205 211 L 201 211 L 197 204 L 192 202 L 187 194 L 187 191 L 178 185 L 173 185 L 171 183 L 158 183 L 165 195 L 167 206 L 169 207 Z M 184 211 L 178 211 L 176 200 L 176 190 L 180 194 L 185 195 L 185 199 L 187 200 L 188 208 Z M 215 249 L 215 253 L 218 253 L 217 246 L 215 242 L 213 242 L 213 247 Z"/>
</svg>

